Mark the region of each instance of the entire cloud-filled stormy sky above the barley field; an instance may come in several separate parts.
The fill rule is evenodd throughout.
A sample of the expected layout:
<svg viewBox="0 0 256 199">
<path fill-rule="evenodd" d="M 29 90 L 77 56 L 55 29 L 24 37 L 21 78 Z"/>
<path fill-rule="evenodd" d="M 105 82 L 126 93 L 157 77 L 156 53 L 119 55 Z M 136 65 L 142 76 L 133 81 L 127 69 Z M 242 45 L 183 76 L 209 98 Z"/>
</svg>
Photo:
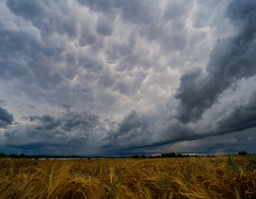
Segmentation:
<svg viewBox="0 0 256 199">
<path fill-rule="evenodd" d="M 0 152 L 256 154 L 255 0 L 1 0 Z"/>
</svg>

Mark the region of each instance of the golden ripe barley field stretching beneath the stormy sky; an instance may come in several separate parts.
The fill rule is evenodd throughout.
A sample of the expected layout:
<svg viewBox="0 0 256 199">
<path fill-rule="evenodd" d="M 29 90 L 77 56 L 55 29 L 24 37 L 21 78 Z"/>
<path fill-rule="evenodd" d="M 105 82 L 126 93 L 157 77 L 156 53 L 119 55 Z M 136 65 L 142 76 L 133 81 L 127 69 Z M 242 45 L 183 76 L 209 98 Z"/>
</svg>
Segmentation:
<svg viewBox="0 0 256 199">
<path fill-rule="evenodd" d="M 0 198 L 256 198 L 256 157 L 2 158 Z"/>
</svg>

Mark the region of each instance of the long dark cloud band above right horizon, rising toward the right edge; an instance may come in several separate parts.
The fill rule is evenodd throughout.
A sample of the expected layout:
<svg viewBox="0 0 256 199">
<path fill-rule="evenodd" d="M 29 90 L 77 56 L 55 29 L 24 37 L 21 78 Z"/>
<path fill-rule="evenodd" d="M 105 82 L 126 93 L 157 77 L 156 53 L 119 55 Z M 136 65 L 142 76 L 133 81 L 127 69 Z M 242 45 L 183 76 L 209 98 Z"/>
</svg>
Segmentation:
<svg viewBox="0 0 256 199">
<path fill-rule="evenodd" d="M 237 106 L 231 106 L 231 110 L 229 110 L 229 114 L 226 116 L 222 116 L 221 119 L 211 121 L 213 125 L 208 125 L 208 127 L 201 128 L 198 125 L 194 127 L 188 126 L 183 123 L 179 123 L 178 121 L 173 121 L 168 124 L 168 127 L 165 131 L 166 136 L 165 139 L 161 139 L 161 141 L 155 142 L 153 144 L 148 145 L 140 145 L 139 148 L 146 147 L 159 147 L 163 145 L 167 145 L 175 142 L 182 141 L 193 141 L 193 140 L 202 140 L 204 138 L 207 140 L 211 137 L 232 135 L 236 132 L 248 132 L 249 135 L 254 135 L 255 127 L 256 127 L 256 93 L 254 91 L 253 94 L 247 99 L 247 101 L 243 104 L 239 104 Z M 163 124 L 164 125 L 164 124 Z M 202 125 L 202 124 L 200 124 Z M 253 130 L 254 129 L 254 130 Z M 250 131 L 251 130 L 251 131 Z M 251 133 L 250 133 L 251 132 Z M 237 134 L 239 135 L 239 134 Z M 239 140 L 242 140 L 242 135 Z M 225 145 L 225 143 L 223 143 Z M 213 148 L 218 148 L 216 145 L 212 146 Z M 135 147 L 134 149 L 136 149 Z M 205 147 L 208 148 L 207 146 Z M 131 147 L 131 149 L 133 149 Z"/>
</svg>

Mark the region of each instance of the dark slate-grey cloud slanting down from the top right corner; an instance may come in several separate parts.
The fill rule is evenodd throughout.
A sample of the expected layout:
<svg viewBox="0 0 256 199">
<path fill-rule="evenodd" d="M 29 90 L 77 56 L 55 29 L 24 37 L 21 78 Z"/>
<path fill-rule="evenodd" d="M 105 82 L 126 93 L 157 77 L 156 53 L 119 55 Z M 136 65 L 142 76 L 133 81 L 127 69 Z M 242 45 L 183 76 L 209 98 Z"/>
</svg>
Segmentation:
<svg viewBox="0 0 256 199">
<path fill-rule="evenodd" d="M 180 79 L 175 98 L 180 100 L 177 118 L 184 123 L 202 118 L 205 110 L 229 86 L 256 73 L 256 3 L 234 1 L 229 5 L 228 16 L 240 32 L 217 41 L 210 55 L 207 75 L 194 70 Z"/>
</svg>

